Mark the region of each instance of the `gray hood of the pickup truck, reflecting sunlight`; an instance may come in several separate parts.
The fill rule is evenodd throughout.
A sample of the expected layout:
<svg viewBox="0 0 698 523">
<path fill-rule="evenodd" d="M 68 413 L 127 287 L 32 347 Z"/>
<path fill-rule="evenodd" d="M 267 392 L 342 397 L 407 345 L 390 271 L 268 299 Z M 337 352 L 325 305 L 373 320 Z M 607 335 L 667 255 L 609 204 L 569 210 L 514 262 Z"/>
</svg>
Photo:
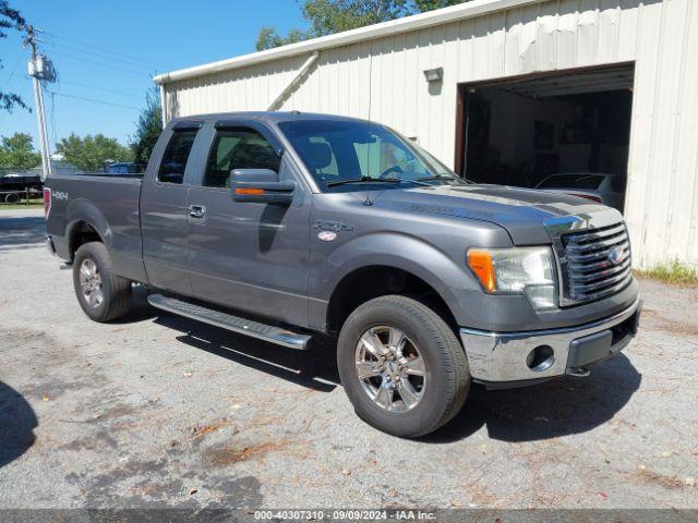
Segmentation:
<svg viewBox="0 0 698 523">
<path fill-rule="evenodd" d="M 543 221 L 569 216 L 585 218 L 607 209 L 564 194 L 480 184 L 385 191 L 375 195 L 374 205 L 495 223 L 506 229 L 515 245 L 550 243 Z"/>
</svg>

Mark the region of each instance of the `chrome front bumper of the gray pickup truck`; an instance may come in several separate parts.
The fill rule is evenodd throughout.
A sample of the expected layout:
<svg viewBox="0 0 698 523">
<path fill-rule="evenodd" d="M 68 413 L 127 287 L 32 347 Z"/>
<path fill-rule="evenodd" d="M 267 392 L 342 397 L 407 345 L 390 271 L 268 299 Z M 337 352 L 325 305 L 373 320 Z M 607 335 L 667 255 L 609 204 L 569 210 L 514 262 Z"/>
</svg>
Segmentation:
<svg viewBox="0 0 698 523">
<path fill-rule="evenodd" d="M 473 380 L 522 385 L 577 374 L 580 367 L 622 351 L 637 332 L 640 311 L 638 299 L 621 313 L 577 327 L 525 332 L 462 328 L 460 339 Z"/>
</svg>

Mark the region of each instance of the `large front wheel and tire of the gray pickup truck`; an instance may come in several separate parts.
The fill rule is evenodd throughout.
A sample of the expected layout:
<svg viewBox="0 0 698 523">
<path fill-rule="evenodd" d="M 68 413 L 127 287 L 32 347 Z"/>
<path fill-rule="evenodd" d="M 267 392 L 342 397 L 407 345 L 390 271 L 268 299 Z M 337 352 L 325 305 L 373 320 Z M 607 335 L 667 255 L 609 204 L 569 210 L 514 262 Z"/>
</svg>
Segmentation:
<svg viewBox="0 0 698 523">
<path fill-rule="evenodd" d="M 404 349 L 396 353 L 402 357 L 390 355 L 386 346 L 390 345 L 393 333 L 400 340 L 399 333 L 405 335 L 406 341 L 400 342 Z M 375 366 L 376 356 L 370 351 L 371 343 L 362 341 L 364 335 L 368 336 L 364 339 L 373 340 L 374 349 L 376 344 L 387 349 L 383 365 L 378 360 Z M 374 343 L 375 337 L 382 343 Z M 390 357 L 395 358 L 392 366 Z M 423 365 L 417 365 L 418 357 Z M 359 377 L 357 362 L 365 368 L 362 372 L 370 373 L 370 378 Z M 404 363 L 402 370 L 396 372 L 399 362 Z M 384 370 L 376 375 L 381 366 Z M 349 316 L 339 333 L 337 367 L 357 414 L 375 428 L 404 438 L 424 436 L 450 421 L 462 408 L 470 388 L 468 361 L 454 331 L 428 306 L 399 295 L 371 300 Z M 413 372 L 422 372 L 423 377 L 414 376 L 412 367 Z M 381 390 L 386 381 L 393 387 L 402 387 L 394 389 L 388 400 L 389 392 Z M 400 390 L 409 401 L 401 399 Z M 412 392 L 419 397 L 416 403 Z"/>
</svg>

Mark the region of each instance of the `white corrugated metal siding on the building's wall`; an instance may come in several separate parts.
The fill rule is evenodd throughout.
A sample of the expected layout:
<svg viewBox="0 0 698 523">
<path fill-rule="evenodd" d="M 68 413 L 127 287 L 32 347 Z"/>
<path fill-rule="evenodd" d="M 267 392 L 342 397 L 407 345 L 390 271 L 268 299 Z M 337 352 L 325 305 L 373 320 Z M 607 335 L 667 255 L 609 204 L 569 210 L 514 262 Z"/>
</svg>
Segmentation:
<svg viewBox="0 0 698 523">
<path fill-rule="evenodd" d="M 453 166 L 458 83 L 635 62 L 626 218 L 636 265 L 698 265 L 697 3 L 545 1 L 324 49 L 281 110 L 371 118 Z M 166 84 L 168 118 L 264 110 L 306 58 Z M 422 72 L 438 66 L 442 88 L 430 90 Z"/>
</svg>

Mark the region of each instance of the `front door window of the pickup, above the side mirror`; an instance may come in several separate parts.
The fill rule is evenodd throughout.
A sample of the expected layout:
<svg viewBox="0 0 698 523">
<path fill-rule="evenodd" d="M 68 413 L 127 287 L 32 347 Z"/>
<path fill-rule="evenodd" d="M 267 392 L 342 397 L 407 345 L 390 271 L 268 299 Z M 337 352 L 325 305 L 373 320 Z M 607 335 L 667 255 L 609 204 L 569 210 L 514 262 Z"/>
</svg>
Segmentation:
<svg viewBox="0 0 698 523">
<path fill-rule="evenodd" d="M 230 129 L 216 133 L 206 162 L 203 185 L 229 187 L 234 169 L 270 169 L 278 172 L 280 158 L 256 131 Z"/>
</svg>

